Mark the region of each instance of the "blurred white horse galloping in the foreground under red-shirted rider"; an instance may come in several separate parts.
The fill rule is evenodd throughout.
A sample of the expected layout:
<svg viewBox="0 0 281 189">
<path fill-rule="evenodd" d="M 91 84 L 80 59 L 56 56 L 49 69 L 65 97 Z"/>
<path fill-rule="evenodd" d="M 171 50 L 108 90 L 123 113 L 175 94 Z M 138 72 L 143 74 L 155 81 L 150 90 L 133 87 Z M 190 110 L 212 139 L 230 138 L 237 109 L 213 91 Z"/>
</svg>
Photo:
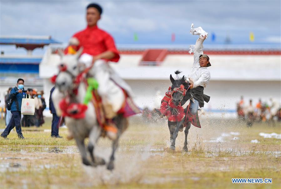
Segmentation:
<svg viewBox="0 0 281 189">
<path fill-rule="evenodd" d="M 58 116 L 62 114 L 62 110 L 59 107 L 59 103 L 63 99 L 68 99 L 71 103 L 83 104 L 83 100 L 86 94 L 86 84 L 80 81 L 78 84 L 74 84 L 76 77 L 83 71 L 81 66 L 78 64 L 78 58 L 81 55 L 83 49 L 80 50 L 75 55 L 63 55 L 59 52 L 61 56 L 60 66 L 64 68 L 64 71 L 60 71 L 56 78 L 56 88 L 53 91 L 52 99 Z M 94 67 L 89 71 L 89 73 L 94 73 Z M 85 76 L 84 76 L 85 77 Z M 77 94 L 73 90 L 76 90 Z M 75 112 L 73 112 L 75 114 Z M 118 127 L 118 135 L 115 140 L 113 140 L 113 151 L 108 163 L 108 169 L 112 170 L 114 168 L 114 153 L 118 146 L 119 136 L 128 127 L 128 122 L 126 118 L 121 115 L 113 120 Z M 105 161 L 94 155 L 94 146 L 101 136 L 102 128 L 98 124 L 97 117 L 95 114 L 95 108 L 93 103 L 88 103 L 88 108 L 85 112 L 85 118 L 74 119 L 72 117 L 65 117 L 65 124 L 73 134 L 77 146 L 79 148 L 80 154 L 82 156 L 82 162 L 85 165 L 104 165 Z M 90 159 L 87 156 L 87 150 L 85 148 L 84 140 L 89 137 L 88 143 L 88 153 L 90 154 Z"/>
</svg>

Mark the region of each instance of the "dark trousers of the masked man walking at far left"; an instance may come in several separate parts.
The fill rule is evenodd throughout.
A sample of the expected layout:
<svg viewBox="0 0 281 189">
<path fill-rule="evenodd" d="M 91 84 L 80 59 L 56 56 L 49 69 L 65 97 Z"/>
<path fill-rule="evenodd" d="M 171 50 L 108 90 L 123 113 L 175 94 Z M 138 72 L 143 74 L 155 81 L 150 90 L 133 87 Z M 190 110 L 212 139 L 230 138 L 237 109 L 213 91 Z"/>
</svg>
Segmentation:
<svg viewBox="0 0 281 189">
<path fill-rule="evenodd" d="M 18 133 L 18 137 L 22 138 L 22 127 L 21 127 L 21 112 L 20 111 L 12 111 L 12 118 L 5 128 L 4 132 L 1 134 L 3 137 L 7 137 L 11 130 L 16 127 L 16 131 Z"/>
</svg>

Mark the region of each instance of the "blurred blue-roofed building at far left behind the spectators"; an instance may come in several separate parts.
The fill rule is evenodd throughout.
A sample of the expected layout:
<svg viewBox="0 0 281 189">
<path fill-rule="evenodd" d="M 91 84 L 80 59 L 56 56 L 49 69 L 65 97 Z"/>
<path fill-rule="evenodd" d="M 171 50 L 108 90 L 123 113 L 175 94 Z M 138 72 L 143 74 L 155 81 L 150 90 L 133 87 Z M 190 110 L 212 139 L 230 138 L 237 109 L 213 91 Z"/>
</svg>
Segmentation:
<svg viewBox="0 0 281 189">
<path fill-rule="evenodd" d="M 59 43 L 51 36 L 1 36 L 0 45 L 22 47 L 26 49 L 26 55 L 9 55 L 1 50 L 0 55 L 0 99 L 4 102 L 4 96 L 9 87 L 14 87 L 18 78 L 25 81 L 25 89 L 37 88 L 43 90 L 43 79 L 39 77 L 39 64 L 43 56 L 32 55 L 36 48 L 43 48 L 51 43 Z M 16 51 L 15 51 L 16 53 Z"/>
</svg>

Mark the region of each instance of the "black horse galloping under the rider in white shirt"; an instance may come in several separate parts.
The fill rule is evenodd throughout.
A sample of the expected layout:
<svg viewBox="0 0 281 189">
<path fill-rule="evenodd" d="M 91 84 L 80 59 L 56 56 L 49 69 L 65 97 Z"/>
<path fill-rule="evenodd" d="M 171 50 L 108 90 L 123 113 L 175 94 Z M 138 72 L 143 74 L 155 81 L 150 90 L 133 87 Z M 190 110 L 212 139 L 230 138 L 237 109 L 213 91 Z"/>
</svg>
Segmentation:
<svg viewBox="0 0 281 189">
<path fill-rule="evenodd" d="M 176 74 L 179 74 L 179 71 L 175 72 Z M 172 92 L 172 102 L 173 104 L 175 104 L 176 106 L 178 106 L 179 104 L 181 104 L 181 106 L 183 106 L 185 103 L 189 104 L 189 99 L 191 99 L 191 93 L 190 93 L 190 89 L 189 89 L 189 82 L 186 81 L 186 78 L 183 76 L 181 79 L 178 80 L 174 80 L 174 78 L 172 77 L 172 75 L 170 75 L 170 80 L 172 82 L 172 86 L 171 86 L 171 91 Z M 184 86 L 184 89 L 186 90 L 185 95 L 183 95 L 183 93 L 177 89 L 179 89 L 181 87 L 181 85 Z M 186 116 L 186 112 L 188 111 L 188 108 L 184 108 L 184 113 Z M 168 127 L 170 130 L 170 140 L 171 140 L 171 146 L 170 149 L 175 150 L 175 143 L 176 143 L 176 138 L 178 136 L 178 131 L 182 130 L 183 131 L 183 123 L 185 121 L 185 117 L 178 122 L 172 122 L 172 121 L 168 121 Z M 187 135 L 188 135 L 188 130 L 190 128 L 190 124 L 188 124 L 187 127 L 185 127 L 184 130 L 184 134 L 185 134 L 185 141 L 184 141 L 184 145 L 183 145 L 183 151 L 187 152 L 188 148 L 187 148 Z"/>
</svg>

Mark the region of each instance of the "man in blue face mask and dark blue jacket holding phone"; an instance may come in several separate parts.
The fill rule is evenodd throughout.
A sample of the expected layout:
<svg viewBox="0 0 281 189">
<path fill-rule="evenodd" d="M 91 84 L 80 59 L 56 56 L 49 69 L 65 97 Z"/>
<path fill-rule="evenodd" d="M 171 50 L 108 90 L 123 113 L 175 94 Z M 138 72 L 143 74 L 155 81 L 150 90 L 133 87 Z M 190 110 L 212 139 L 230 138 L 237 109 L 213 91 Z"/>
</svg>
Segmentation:
<svg viewBox="0 0 281 189">
<path fill-rule="evenodd" d="M 11 130 L 16 127 L 16 131 L 18 133 L 18 138 L 24 138 L 23 133 L 22 133 L 22 128 L 21 128 L 21 106 L 22 106 L 22 99 L 24 95 L 26 95 L 23 91 L 24 85 L 24 80 L 19 78 L 17 81 L 17 86 L 14 87 L 11 90 L 10 93 L 10 99 L 13 100 L 12 105 L 11 105 L 11 113 L 12 113 L 12 118 L 1 134 L 1 137 L 7 138 L 8 134 L 11 132 Z M 27 94 L 29 92 L 27 91 Z"/>
</svg>

